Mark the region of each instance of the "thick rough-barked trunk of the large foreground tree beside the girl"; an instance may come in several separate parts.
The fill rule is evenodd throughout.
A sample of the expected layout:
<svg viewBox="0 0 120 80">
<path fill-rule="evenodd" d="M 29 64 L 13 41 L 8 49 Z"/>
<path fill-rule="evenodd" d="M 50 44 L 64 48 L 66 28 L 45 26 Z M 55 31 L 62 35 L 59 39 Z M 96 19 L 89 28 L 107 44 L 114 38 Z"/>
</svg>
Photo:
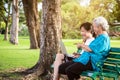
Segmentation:
<svg viewBox="0 0 120 80">
<path fill-rule="evenodd" d="M 51 65 L 55 54 L 60 52 L 61 39 L 61 0 L 42 1 L 40 56 L 37 64 L 28 70 L 39 80 L 50 80 Z"/>
</svg>

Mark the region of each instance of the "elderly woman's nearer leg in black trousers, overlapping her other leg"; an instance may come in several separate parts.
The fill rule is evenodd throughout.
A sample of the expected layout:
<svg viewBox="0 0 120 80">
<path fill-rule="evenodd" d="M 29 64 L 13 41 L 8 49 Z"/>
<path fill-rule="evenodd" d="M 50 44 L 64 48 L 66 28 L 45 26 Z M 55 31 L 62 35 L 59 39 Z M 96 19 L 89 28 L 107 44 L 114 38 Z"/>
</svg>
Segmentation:
<svg viewBox="0 0 120 80">
<path fill-rule="evenodd" d="M 74 79 L 79 79 L 80 74 L 86 70 L 93 70 L 91 61 L 89 61 L 86 65 L 83 65 L 82 63 L 72 64 L 66 69 L 66 74 L 69 80 L 74 80 Z"/>
</svg>

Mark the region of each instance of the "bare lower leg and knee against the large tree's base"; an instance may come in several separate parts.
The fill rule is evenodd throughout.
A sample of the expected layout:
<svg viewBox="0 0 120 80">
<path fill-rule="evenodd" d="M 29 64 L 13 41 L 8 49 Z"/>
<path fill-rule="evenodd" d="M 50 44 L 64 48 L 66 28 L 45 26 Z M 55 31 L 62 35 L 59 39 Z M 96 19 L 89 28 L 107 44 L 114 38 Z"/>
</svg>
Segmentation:
<svg viewBox="0 0 120 80">
<path fill-rule="evenodd" d="M 58 67 L 63 63 L 64 54 L 56 54 L 55 62 L 54 62 L 54 73 L 53 80 L 59 80 Z"/>
</svg>

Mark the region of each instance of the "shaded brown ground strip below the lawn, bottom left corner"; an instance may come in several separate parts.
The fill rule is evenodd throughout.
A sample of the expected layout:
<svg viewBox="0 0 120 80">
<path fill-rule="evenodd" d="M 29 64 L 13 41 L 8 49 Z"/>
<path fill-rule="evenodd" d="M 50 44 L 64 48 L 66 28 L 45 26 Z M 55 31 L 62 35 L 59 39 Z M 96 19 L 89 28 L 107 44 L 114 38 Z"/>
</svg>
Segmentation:
<svg viewBox="0 0 120 80">
<path fill-rule="evenodd" d="M 16 68 L 0 72 L 0 80 L 36 80 L 34 79 L 34 75 L 32 75 L 33 72 L 28 72 L 28 70 L 29 69 Z"/>
</svg>

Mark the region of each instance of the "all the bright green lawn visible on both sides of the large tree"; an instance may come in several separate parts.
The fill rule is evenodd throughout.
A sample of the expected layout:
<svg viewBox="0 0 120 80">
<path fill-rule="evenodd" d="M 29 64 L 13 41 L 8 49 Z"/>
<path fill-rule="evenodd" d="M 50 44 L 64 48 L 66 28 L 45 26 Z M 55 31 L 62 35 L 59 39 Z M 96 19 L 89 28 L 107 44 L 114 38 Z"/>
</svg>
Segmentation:
<svg viewBox="0 0 120 80">
<path fill-rule="evenodd" d="M 68 53 L 72 53 L 77 50 L 74 43 L 81 42 L 81 40 L 63 39 L 63 42 Z M 112 47 L 120 47 L 119 44 L 119 40 L 111 40 Z M 33 66 L 39 58 L 40 50 L 30 50 L 29 46 L 29 37 L 19 37 L 19 44 L 12 45 L 9 41 L 3 41 L 3 35 L 0 35 L 0 71 Z"/>
</svg>

